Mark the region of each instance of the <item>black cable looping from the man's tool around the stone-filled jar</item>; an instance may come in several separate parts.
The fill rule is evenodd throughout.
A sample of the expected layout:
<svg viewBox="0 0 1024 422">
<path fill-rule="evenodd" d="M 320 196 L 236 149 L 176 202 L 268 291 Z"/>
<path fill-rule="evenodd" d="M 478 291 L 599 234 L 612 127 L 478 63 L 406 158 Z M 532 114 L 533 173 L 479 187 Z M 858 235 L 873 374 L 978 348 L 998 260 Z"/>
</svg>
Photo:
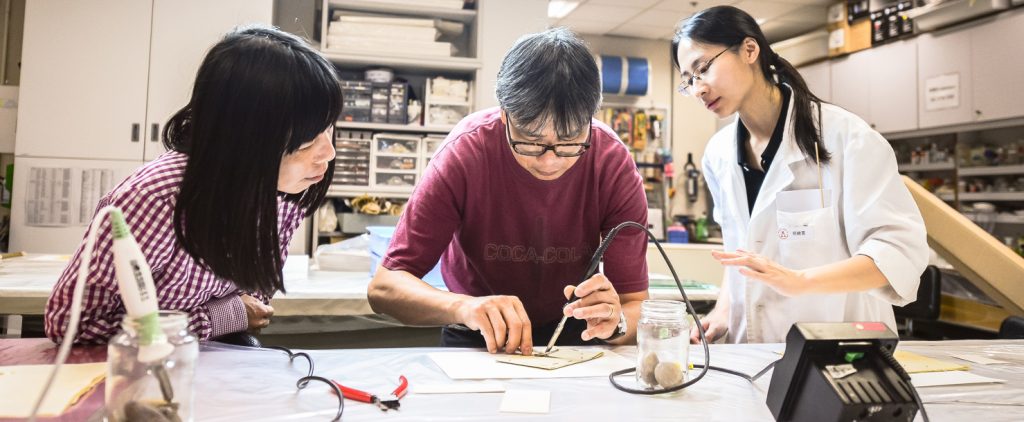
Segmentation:
<svg viewBox="0 0 1024 422">
<path fill-rule="evenodd" d="M 755 375 L 755 376 L 752 377 L 752 376 L 749 376 L 749 375 L 743 374 L 743 373 L 738 372 L 738 371 L 733 371 L 733 370 L 730 370 L 730 369 L 719 368 L 719 367 L 714 367 L 714 366 L 709 365 L 710 362 L 711 362 L 711 352 L 708 349 L 708 339 L 705 337 L 705 330 L 703 330 L 703 325 L 700 324 L 700 316 L 697 315 L 697 311 L 693 308 L 693 304 L 690 303 L 689 297 L 686 296 L 686 291 L 683 290 L 683 284 L 679 281 L 679 276 L 676 273 L 676 268 L 673 267 L 672 266 L 672 262 L 669 261 L 669 255 L 665 253 L 665 249 L 662 248 L 662 244 L 657 242 L 657 239 L 654 239 L 654 235 L 652 235 L 650 233 L 650 230 L 647 229 L 647 227 L 643 226 L 640 223 L 637 223 L 637 222 L 634 222 L 634 221 L 626 221 L 626 222 L 620 223 L 614 228 L 612 228 L 611 230 L 609 230 L 608 235 L 604 237 L 604 241 L 602 241 L 601 245 L 598 246 L 597 251 L 594 252 L 594 257 L 591 258 L 591 260 L 590 260 L 590 266 L 587 268 L 587 273 L 585 275 L 584 280 L 590 279 L 591 277 L 594 276 L 594 273 L 597 271 L 597 265 L 601 262 L 601 258 L 604 257 L 604 252 L 608 249 L 608 246 L 611 245 L 611 241 L 613 239 L 615 239 L 615 236 L 618 235 L 620 230 L 622 230 L 623 228 L 626 228 L 626 227 L 639 228 L 639 229 L 643 230 L 644 233 L 646 233 L 647 234 L 647 238 L 650 239 L 650 241 L 654 243 L 654 246 L 657 247 L 657 251 L 660 252 L 662 253 L 662 257 L 665 258 L 665 263 L 667 265 L 669 265 L 669 271 L 672 272 L 672 279 L 676 282 L 676 287 L 679 288 L 679 293 L 681 295 L 683 295 L 683 302 L 686 303 L 686 309 L 689 311 L 689 313 L 691 315 L 693 315 L 693 323 L 696 324 L 696 326 L 697 326 L 697 334 L 699 334 L 699 336 L 700 336 L 700 344 L 703 346 L 703 351 L 705 351 L 705 363 L 703 363 L 703 365 L 694 365 L 693 366 L 693 368 L 700 368 L 700 373 L 697 374 L 696 377 L 693 377 L 693 379 L 691 379 L 691 380 L 689 380 L 687 382 L 684 382 L 682 384 L 679 384 L 679 385 L 676 385 L 676 386 L 672 386 L 672 387 L 668 387 L 668 388 L 651 388 L 651 389 L 630 388 L 630 387 L 622 385 L 617 381 L 615 381 L 615 377 L 617 377 L 620 375 L 626 375 L 626 374 L 629 374 L 629 373 L 632 373 L 632 372 L 636 372 L 637 369 L 636 368 L 629 368 L 629 369 L 625 369 L 625 370 L 621 370 L 621 371 L 615 371 L 615 372 L 612 372 L 610 375 L 608 375 L 608 381 L 611 382 L 611 385 L 613 387 L 615 387 L 618 390 L 626 391 L 626 392 L 633 393 L 633 394 L 645 394 L 645 395 L 663 394 L 663 393 L 667 393 L 667 392 L 679 391 L 679 390 L 681 390 L 683 388 L 686 388 L 686 387 L 688 387 L 690 385 L 695 384 L 697 381 L 700 381 L 700 379 L 703 378 L 703 376 L 708 373 L 708 370 L 714 370 L 714 371 L 719 371 L 719 372 L 723 372 L 723 373 L 726 373 L 726 374 L 732 374 L 732 375 L 735 375 L 737 377 L 743 378 L 743 379 L 745 379 L 748 381 L 754 382 L 755 380 L 757 380 L 758 378 L 760 378 L 762 375 L 764 375 L 765 373 L 767 373 L 768 370 L 770 370 L 772 367 L 775 366 L 775 363 L 773 362 L 770 365 L 768 365 L 768 367 L 766 367 L 765 369 L 761 370 L 761 372 L 759 372 L 757 375 Z"/>
</svg>

